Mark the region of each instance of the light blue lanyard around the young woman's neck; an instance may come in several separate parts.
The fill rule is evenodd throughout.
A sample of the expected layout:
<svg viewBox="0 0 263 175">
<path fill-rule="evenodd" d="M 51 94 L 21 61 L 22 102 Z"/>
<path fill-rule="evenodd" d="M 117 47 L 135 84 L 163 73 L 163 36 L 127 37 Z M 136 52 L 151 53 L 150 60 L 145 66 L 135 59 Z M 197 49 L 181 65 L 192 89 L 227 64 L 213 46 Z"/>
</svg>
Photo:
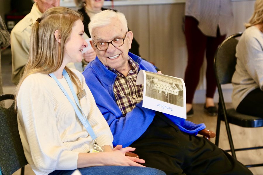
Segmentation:
<svg viewBox="0 0 263 175">
<path fill-rule="evenodd" d="M 65 79 L 66 79 L 66 81 L 67 81 L 67 83 L 68 83 L 68 85 L 69 85 L 69 87 L 70 87 L 70 91 L 71 91 L 71 93 L 72 93 L 72 95 L 73 95 L 73 97 L 74 97 L 74 100 L 75 100 L 77 106 L 79 107 L 79 109 L 77 108 L 76 104 L 74 104 L 74 102 L 72 101 L 72 99 L 69 97 L 68 92 L 64 89 L 64 87 L 63 87 L 63 86 L 61 85 L 61 83 L 58 81 L 58 79 L 56 78 L 56 76 L 55 76 L 53 73 L 52 73 L 52 74 L 49 74 L 49 76 L 51 76 L 51 77 L 57 82 L 57 84 L 58 84 L 58 86 L 60 87 L 60 89 L 63 91 L 63 93 L 65 94 L 65 96 L 68 98 L 68 101 L 69 101 L 70 104 L 73 106 L 73 108 L 74 108 L 74 110 L 75 110 L 75 113 L 77 114 L 79 120 L 82 122 L 83 126 L 84 126 L 84 127 L 86 128 L 86 130 L 88 131 L 88 133 L 89 133 L 89 135 L 91 136 L 92 140 L 95 140 L 97 137 L 96 137 L 96 135 L 95 135 L 92 127 L 90 126 L 88 119 L 85 117 L 84 112 L 83 112 L 82 109 L 81 109 L 81 106 L 80 106 L 80 104 L 79 104 L 79 100 L 78 100 L 77 95 L 76 95 L 76 93 L 75 93 L 75 90 L 74 90 L 74 88 L 73 88 L 73 86 L 72 86 L 72 82 L 71 82 L 71 80 L 70 80 L 70 77 L 69 77 L 69 75 L 68 75 L 68 72 L 67 72 L 65 69 L 63 70 L 62 75 L 65 77 Z M 82 113 L 81 113 L 79 110 L 80 110 Z M 82 114 L 83 114 L 83 115 L 82 115 Z"/>
</svg>

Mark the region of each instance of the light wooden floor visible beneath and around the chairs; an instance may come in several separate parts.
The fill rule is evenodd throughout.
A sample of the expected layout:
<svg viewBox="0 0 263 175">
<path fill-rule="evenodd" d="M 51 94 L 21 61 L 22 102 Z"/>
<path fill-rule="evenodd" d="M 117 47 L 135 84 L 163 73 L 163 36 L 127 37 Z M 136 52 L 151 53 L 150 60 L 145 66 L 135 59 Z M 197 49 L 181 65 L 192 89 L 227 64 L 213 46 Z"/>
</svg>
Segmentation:
<svg viewBox="0 0 263 175">
<path fill-rule="evenodd" d="M 14 93 L 13 83 L 11 79 L 11 51 L 6 49 L 1 53 L 2 77 L 4 94 Z M 6 106 L 10 106 L 13 101 L 5 101 Z M 231 104 L 228 104 L 231 106 Z M 203 104 L 194 104 L 194 116 L 188 120 L 195 123 L 205 123 L 206 128 L 216 131 L 217 117 L 210 117 L 203 112 Z M 226 135 L 224 122 L 221 123 L 219 147 L 222 149 L 229 149 L 229 143 Z M 262 128 L 242 128 L 235 125 L 230 125 L 235 148 L 260 146 L 263 145 Z M 214 143 L 215 139 L 211 139 Z M 243 164 L 261 163 L 263 162 L 263 150 L 243 151 L 236 153 L 237 158 Z M 263 167 L 250 168 L 255 175 L 263 175 Z M 19 175 L 20 170 L 16 171 L 14 175 Z M 25 175 L 34 175 L 34 172 L 29 165 L 25 167 Z"/>
</svg>

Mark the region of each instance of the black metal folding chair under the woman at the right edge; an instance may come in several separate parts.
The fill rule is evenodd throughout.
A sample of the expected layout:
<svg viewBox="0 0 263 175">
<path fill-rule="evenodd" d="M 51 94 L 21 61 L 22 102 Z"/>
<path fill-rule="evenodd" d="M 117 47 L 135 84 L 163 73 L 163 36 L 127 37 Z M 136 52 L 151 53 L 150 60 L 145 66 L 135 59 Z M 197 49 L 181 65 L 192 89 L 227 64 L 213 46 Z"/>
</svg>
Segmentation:
<svg viewBox="0 0 263 175">
<path fill-rule="evenodd" d="M 219 93 L 217 131 L 216 131 L 217 135 L 216 135 L 215 144 L 217 146 L 219 145 L 220 124 L 221 124 L 221 120 L 224 120 L 226 125 L 226 132 L 229 140 L 229 145 L 230 145 L 230 150 L 226 150 L 226 151 L 228 152 L 231 151 L 232 156 L 234 158 L 236 158 L 235 151 L 263 148 L 263 146 L 240 148 L 240 149 L 234 148 L 229 123 L 241 127 L 262 127 L 263 118 L 238 113 L 234 108 L 226 109 L 224 96 L 221 88 L 221 85 L 231 83 L 232 76 L 236 70 L 235 55 L 236 55 L 236 45 L 238 43 L 238 40 L 236 38 L 241 35 L 242 33 L 240 32 L 226 38 L 217 48 L 217 52 L 215 53 L 215 58 L 214 58 L 214 70 L 216 74 L 217 88 Z M 263 166 L 263 164 L 246 165 L 246 167 L 259 167 L 259 166 Z"/>
</svg>

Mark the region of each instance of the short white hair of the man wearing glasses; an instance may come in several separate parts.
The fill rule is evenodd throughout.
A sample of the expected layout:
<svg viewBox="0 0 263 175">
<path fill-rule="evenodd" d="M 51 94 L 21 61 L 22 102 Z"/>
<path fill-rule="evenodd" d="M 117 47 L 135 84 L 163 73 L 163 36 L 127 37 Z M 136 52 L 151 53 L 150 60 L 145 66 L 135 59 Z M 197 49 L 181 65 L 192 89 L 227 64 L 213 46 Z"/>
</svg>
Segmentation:
<svg viewBox="0 0 263 175">
<path fill-rule="evenodd" d="M 115 12 L 114 10 L 102 10 L 100 13 L 93 15 L 90 18 L 89 22 L 89 34 L 91 38 L 93 37 L 92 32 L 94 28 L 109 25 L 113 22 L 113 20 L 116 19 L 119 20 L 120 23 L 124 26 L 124 29 L 128 31 L 127 20 L 123 13 Z"/>
</svg>

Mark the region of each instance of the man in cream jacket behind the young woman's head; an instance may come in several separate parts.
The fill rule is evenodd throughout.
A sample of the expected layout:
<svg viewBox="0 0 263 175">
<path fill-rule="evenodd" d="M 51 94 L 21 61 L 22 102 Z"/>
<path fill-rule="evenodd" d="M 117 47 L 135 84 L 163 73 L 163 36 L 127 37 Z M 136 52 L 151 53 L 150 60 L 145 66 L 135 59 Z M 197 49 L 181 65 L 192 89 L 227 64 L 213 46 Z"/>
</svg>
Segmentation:
<svg viewBox="0 0 263 175">
<path fill-rule="evenodd" d="M 11 31 L 12 82 L 16 85 L 28 60 L 32 25 L 46 10 L 59 6 L 60 0 L 34 0 L 30 11 Z"/>
</svg>

